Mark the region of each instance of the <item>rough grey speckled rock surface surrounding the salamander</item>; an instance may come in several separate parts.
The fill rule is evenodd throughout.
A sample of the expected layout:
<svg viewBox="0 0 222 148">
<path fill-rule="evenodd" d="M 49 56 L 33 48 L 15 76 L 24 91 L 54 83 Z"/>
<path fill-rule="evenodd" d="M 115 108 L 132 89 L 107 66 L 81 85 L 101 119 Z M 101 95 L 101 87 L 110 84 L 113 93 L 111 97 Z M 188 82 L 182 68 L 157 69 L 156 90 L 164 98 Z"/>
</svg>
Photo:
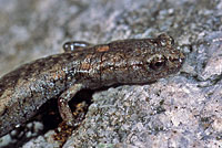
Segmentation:
<svg viewBox="0 0 222 148">
<path fill-rule="evenodd" d="M 69 40 L 104 43 L 167 32 L 186 54 L 181 72 L 149 85 L 97 92 L 85 119 L 63 147 L 218 148 L 222 146 L 221 14 L 222 2 L 211 0 L 0 0 L 0 75 L 62 52 Z M 22 145 L 59 147 L 51 133 Z M 18 146 L 9 136 L 6 139 Z"/>
</svg>

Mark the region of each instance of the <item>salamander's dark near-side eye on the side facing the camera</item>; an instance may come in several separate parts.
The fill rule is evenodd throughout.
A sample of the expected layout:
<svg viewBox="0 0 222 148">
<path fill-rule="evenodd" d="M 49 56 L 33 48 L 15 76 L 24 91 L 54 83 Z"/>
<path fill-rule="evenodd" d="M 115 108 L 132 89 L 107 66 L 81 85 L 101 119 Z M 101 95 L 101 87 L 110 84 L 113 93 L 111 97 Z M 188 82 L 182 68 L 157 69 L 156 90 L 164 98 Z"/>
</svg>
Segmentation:
<svg viewBox="0 0 222 148">
<path fill-rule="evenodd" d="M 152 59 L 151 63 L 150 63 L 150 68 L 158 71 L 161 70 L 163 66 L 165 66 L 165 57 L 161 56 L 161 57 L 154 57 Z"/>
</svg>

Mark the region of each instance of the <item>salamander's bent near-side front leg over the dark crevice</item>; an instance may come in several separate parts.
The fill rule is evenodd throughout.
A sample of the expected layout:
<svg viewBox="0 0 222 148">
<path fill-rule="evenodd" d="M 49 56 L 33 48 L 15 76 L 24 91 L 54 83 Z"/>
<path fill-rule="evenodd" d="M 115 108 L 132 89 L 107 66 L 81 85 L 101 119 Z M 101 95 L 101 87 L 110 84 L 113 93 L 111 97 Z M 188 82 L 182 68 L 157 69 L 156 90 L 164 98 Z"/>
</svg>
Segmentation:
<svg viewBox="0 0 222 148">
<path fill-rule="evenodd" d="M 82 88 L 83 88 L 82 84 L 74 84 L 73 86 L 69 87 L 65 92 L 63 92 L 61 96 L 58 98 L 60 115 L 69 126 L 75 126 L 75 123 L 73 114 L 68 103 L 77 94 L 77 92 L 79 92 Z"/>
</svg>

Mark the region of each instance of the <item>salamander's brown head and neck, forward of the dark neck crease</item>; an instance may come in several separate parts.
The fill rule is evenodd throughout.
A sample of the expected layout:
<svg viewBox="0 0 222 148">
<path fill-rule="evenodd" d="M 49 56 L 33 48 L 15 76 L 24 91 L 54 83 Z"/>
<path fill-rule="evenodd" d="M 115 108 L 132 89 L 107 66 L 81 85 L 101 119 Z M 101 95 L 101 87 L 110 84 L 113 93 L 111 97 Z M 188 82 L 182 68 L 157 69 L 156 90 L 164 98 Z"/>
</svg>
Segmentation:
<svg viewBox="0 0 222 148">
<path fill-rule="evenodd" d="M 100 64 L 100 83 L 105 86 L 154 82 L 176 73 L 185 59 L 174 47 L 173 39 L 167 34 L 155 39 L 115 41 L 109 44 L 109 50 L 100 51 L 104 51 Z"/>
</svg>

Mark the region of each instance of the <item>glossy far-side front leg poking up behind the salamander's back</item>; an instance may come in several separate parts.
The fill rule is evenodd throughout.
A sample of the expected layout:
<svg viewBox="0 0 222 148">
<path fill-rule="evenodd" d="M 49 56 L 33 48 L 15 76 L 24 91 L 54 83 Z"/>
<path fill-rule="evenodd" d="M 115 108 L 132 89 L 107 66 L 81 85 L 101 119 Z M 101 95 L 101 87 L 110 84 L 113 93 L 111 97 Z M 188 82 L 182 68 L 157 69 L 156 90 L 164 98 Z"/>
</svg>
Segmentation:
<svg viewBox="0 0 222 148">
<path fill-rule="evenodd" d="M 64 52 L 82 51 L 85 47 L 92 46 L 93 44 L 84 41 L 70 41 L 63 44 Z"/>
</svg>

